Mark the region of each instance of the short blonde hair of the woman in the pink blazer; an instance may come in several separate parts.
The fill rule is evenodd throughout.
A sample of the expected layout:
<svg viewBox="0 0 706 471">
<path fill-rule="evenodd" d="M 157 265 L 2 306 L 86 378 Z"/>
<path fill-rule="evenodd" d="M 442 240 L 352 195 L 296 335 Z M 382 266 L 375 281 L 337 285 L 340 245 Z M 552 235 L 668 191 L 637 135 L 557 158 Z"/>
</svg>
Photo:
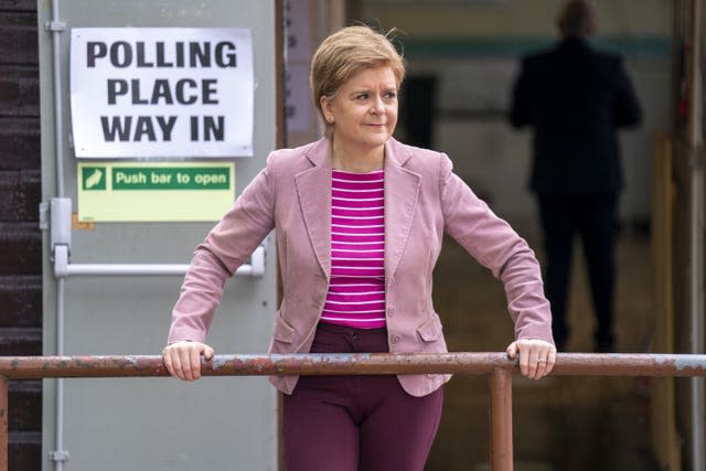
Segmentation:
<svg viewBox="0 0 706 471">
<path fill-rule="evenodd" d="M 405 78 L 405 61 L 391 42 L 394 31 L 382 34 L 372 28 L 355 25 L 323 40 L 311 60 L 309 75 L 313 105 L 322 118 L 321 97 L 333 98 L 349 78 L 364 68 L 389 66 L 399 88 Z"/>
</svg>

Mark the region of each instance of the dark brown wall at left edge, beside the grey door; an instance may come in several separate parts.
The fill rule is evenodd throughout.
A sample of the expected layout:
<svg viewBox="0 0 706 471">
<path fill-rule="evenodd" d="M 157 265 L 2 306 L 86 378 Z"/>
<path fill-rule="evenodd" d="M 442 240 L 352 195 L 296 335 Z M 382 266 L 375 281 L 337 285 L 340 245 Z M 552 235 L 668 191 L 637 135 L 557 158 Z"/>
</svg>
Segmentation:
<svg viewBox="0 0 706 471">
<path fill-rule="evenodd" d="M 0 354 L 42 354 L 36 2 L 0 0 Z M 42 383 L 13 381 L 9 469 L 40 470 Z"/>
</svg>

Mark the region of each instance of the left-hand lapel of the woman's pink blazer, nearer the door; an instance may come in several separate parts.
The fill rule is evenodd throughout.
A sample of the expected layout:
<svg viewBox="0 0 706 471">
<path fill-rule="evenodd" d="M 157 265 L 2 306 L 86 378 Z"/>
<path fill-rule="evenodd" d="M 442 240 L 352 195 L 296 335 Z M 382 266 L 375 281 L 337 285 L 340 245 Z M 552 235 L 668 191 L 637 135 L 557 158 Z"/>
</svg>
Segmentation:
<svg viewBox="0 0 706 471">
<path fill-rule="evenodd" d="M 327 280 L 331 278 L 331 159 L 329 156 L 330 141 L 321 139 L 306 154 L 313 167 L 295 175 L 299 206 L 307 233 Z"/>
</svg>

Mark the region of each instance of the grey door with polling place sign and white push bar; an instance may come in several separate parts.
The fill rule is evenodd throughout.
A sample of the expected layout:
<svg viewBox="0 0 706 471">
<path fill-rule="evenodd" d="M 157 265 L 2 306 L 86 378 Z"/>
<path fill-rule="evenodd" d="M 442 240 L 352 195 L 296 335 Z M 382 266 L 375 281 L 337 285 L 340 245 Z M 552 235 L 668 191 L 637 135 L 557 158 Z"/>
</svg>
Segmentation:
<svg viewBox="0 0 706 471">
<path fill-rule="evenodd" d="M 217 220 L 214 207 L 232 191 L 229 205 L 278 143 L 276 2 L 38 4 L 38 22 L 50 29 L 40 34 L 42 201 L 51 222 L 44 354 L 159 354 L 183 266 Z M 244 75 L 229 79 L 236 54 Z M 87 62 L 72 63 L 77 57 Z M 89 92 L 105 101 L 82 105 Z M 204 117 L 218 100 L 228 104 L 223 114 Z M 86 133 L 90 118 L 98 131 Z M 234 135 L 240 148 L 220 147 Z M 267 349 L 274 234 L 249 268 L 226 285 L 208 338 L 218 353 Z M 277 467 L 277 395 L 264 377 L 62 379 L 44 390 L 43 469 Z"/>
</svg>

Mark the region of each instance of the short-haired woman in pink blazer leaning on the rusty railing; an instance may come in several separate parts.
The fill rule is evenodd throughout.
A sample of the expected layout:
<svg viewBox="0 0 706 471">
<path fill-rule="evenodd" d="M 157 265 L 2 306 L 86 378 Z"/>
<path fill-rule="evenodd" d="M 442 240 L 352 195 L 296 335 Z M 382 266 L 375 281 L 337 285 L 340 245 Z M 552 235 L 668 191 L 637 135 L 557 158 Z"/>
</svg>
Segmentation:
<svg viewBox="0 0 706 471">
<path fill-rule="evenodd" d="M 277 228 L 284 299 L 271 353 L 446 352 L 431 304 L 443 232 L 505 286 L 511 357 L 538 379 L 556 350 L 539 267 L 527 244 L 451 172 L 442 153 L 392 138 L 405 68 L 366 26 L 323 41 L 311 88 L 327 124 L 317 142 L 272 152 L 194 255 L 164 363 L 200 377 L 224 282 Z M 422 470 L 449 375 L 277 376 L 289 471 Z"/>
</svg>

